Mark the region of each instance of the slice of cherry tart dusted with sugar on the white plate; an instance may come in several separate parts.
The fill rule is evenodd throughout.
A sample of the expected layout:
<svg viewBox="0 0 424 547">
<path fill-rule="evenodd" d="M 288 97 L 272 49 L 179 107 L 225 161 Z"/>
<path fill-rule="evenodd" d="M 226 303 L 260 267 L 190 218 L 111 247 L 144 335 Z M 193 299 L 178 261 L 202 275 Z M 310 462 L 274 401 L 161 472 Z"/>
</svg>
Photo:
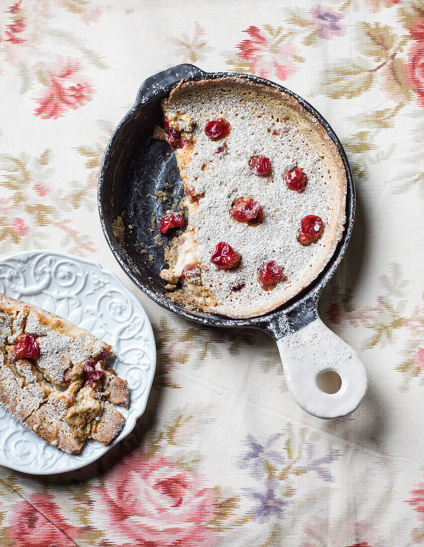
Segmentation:
<svg viewBox="0 0 424 547">
<path fill-rule="evenodd" d="M 0 406 L 50 445 L 79 452 L 123 428 L 127 382 L 105 365 L 111 346 L 36 306 L 0 294 Z"/>
</svg>

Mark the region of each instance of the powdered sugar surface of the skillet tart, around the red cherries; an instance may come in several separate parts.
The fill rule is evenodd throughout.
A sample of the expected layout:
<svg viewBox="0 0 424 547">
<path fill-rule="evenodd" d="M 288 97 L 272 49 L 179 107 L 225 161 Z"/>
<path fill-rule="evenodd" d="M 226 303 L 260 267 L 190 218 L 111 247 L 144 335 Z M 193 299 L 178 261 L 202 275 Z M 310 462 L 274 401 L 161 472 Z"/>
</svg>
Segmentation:
<svg viewBox="0 0 424 547">
<path fill-rule="evenodd" d="M 252 317 L 292 298 L 327 264 L 342 235 L 346 187 L 334 150 L 316 127 L 280 97 L 265 94 L 255 85 L 248 88 L 229 80 L 183 85 L 172 92 L 164 110 L 165 115 L 187 113 L 194 125 L 192 159 L 184 161 L 185 165 L 179 162 L 179 166 L 184 183 L 193 185 L 196 194 L 204 194 L 199 206 L 190 211 L 188 229 L 196 241 L 202 284 L 217 300 L 216 307 L 208 311 Z M 213 141 L 205 135 L 204 127 L 217 118 L 226 119 L 231 131 Z M 227 153 L 217 154 L 224 144 Z M 184 149 L 176 150 L 177 159 L 179 154 L 184 154 Z M 269 176 L 252 173 L 248 164 L 252 156 L 270 158 Z M 284 183 L 284 174 L 293 167 L 307 175 L 303 193 Z M 263 223 L 248 225 L 230 217 L 234 200 L 242 196 L 259 201 Z M 320 241 L 304 247 L 297 234 L 300 220 L 307 214 L 320 216 L 325 229 Z M 219 241 L 229 243 L 242 255 L 236 270 L 222 271 L 211 264 Z M 257 281 L 257 272 L 270 260 L 283 269 L 285 280 L 266 291 Z M 242 290 L 233 290 L 243 283 Z"/>
</svg>

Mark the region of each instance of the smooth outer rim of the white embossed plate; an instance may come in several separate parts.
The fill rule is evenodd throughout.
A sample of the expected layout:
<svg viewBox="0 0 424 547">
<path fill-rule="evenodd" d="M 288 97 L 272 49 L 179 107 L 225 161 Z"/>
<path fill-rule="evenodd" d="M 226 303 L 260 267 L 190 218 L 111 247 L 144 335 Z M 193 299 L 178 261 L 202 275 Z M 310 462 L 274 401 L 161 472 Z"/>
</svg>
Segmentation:
<svg viewBox="0 0 424 547">
<path fill-rule="evenodd" d="M 99 273 L 103 273 L 104 275 L 107 275 L 111 278 L 111 281 L 113 282 L 113 287 L 121 290 L 124 293 L 124 295 L 132 301 L 134 310 L 138 311 L 144 319 L 141 331 L 146 336 L 146 342 L 150 350 L 148 357 L 150 358 L 149 358 L 148 367 L 144 368 L 146 370 L 146 385 L 145 385 L 146 387 L 144 387 L 142 391 L 142 394 L 140 399 L 138 400 L 137 406 L 133 409 L 131 409 L 131 398 L 130 398 L 129 412 L 131 411 L 131 414 L 126 416 L 126 421 L 125 421 L 125 426 L 129 424 L 130 427 L 126 429 L 124 426 L 124 429 L 120 432 L 118 437 L 114 439 L 112 443 L 110 443 L 109 445 L 102 446 L 100 445 L 100 443 L 96 443 L 96 441 L 88 441 L 90 444 L 92 445 L 94 444 L 95 448 L 94 448 L 94 452 L 92 452 L 90 456 L 86 456 L 86 457 L 84 457 L 84 448 L 83 448 L 83 453 L 80 455 L 69 455 L 69 454 L 66 454 L 65 452 L 61 452 L 58 449 L 54 449 L 54 447 L 51 447 L 52 449 L 57 450 L 57 452 L 59 453 L 59 456 L 57 456 L 56 458 L 56 462 L 63 462 L 63 461 L 65 462 L 65 465 L 63 465 L 63 467 L 61 467 L 60 469 L 55 469 L 54 467 L 49 467 L 48 469 L 45 469 L 45 470 L 43 468 L 34 469 L 31 467 L 30 464 L 19 464 L 16 462 L 16 460 L 5 459 L 3 455 L 0 453 L 0 465 L 3 465 L 4 467 L 7 467 L 9 469 L 14 469 L 16 471 L 30 474 L 30 475 L 53 475 L 58 473 L 67 473 L 69 471 L 80 469 L 82 467 L 85 467 L 86 465 L 89 465 L 90 463 L 94 463 L 98 458 L 102 457 L 106 452 L 108 452 L 113 446 L 115 446 L 121 440 L 125 439 L 125 437 L 127 437 L 127 435 L 129 435 L 134 429 L 138 418 L 140 418 L 140 416 L 142 416 L 143 412 L 146 410 L 147 400 L 150 394 L 150 390 L 152 389 L 152 383 L 153 383 L 153 378 L 154 378 L 154 373 L 156 368 L 155 338 L 154 338 L 152 324 L 150 323 L 150 319 L 146 313 L 146 310 L 144 310 L 144 307 L 142 306 L 141 302 L 136 298 L 136 296 L 131 293 L 130 289 L 125 287 L 124 283 L 111 270 L 107 270 L 103 268 L 103 266 L 95 260 L 79 257 L 78 255 L 64 253 L 62 251 L 56 251 L 54 249 L 23 251 L 21 253 L 16 253 L 16 254 L 8 255 L 6 257 L 1 257 L 0 266 L 4 266 L 10 260 L 15 260 L 18 264 L 19 263 L 25 264 L 25 261 L 28 262 L 31 259 L 42 258 L 48 255 L 51 255 L 56 260 L 66 259 L 69 261 L 69 263 L 79 263 L 80 265 L 82 265 L 82 267 L 84 266 L 95 267 L 95 269 L 97 269 Z M 6 294 L 8 294 L 8 290 L 7 290 L 8 280 L 4 279 L 3 281 L 5 286 L 5 292 Z M 43 294 L 43 293 L 44 293 L 44 289 L 40 290 L 38 293 L 32 296 L 37 297 L 38 294 Z M 13 296 L 12 294 L 9 294 L 9 295 Z M 54 299 L 53 296 L 51 296 L 50 298 Z M 131 341 L 131 339 L 129 341 Z M 130 393 L 130 397 L 131 397 L 131 393 Z M 3 409 L 0 409 L 0 410 L 5 412 Z M 4 416 L 0 416 L 0 424 L 2 422 L 4 423 L 5 421 L 7 421 L 8 424 L 10 424 L 9 430 L 11 434 L 16 432 L 16 430 L 15 431 L 13 430 L 15 426 L 22 428 L 22 431 L 29 432 L 27 428 L 22 426 L 18 421 L 15 420 L 15 418 L 7 414 L 7 412 L 5 412 Z M 14 427 L 12 428 L 11 426 L 14 426 Z M 19 430 L 20 429 L 18 429 L 18 431 Z M 38 444 L 40 445 L 40 450 L 42 452 L 45 452 L 46 450 L 50 449 L 50 445 L 45 443 L 45 441 L 43 441 L 42 439 L 39 439 L 37 435 L 35 434 L 33 435 L 34 435 L 34 442 L 36 443 L 36 445 Z"/>
</svg>

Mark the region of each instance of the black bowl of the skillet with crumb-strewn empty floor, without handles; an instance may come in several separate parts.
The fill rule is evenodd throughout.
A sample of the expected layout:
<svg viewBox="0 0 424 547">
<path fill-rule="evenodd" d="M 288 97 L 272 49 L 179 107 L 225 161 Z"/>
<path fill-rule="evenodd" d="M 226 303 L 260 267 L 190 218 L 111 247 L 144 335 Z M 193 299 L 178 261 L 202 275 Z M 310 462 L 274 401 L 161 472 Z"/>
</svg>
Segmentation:
<svg viewBox="0 0 424 547">
<path fill-rule="evenodd" d="M 233 75 L 232 73 L 204 73 L 191 65 L 182 65 L 182 67 L 191 67 L 198 71 L 195 74 L 191 71 L 189 79 L 218 78 Z M 315 310 L 319 293 L 332 276 L 342 254 L 344 254 L 352 229 L 355 212 L 355 189 L 349 163 L 341 144 L 326 120 L 300 97 L 281 86 L 271 84 L 268 80 L 238 74 L 240 77 L 249 78 L 254 82 L 265 85 L 272 85 L 294 95 L 309 112 L 316 116 L 326 128 L 330 137 L 333 138 L 340 150 L 347 172 L 347 221 L 345 231 L 332 260 L 327 264 L 321 275 L 295 299 L 287 302 L 280 309 L 266 316 L 251 319 L 229 319 L 212 313 L 189 312 L 166 296 L 166 282 L 159 276 L 160 270 L 166 266 L 164 247 L 159 247 L 154 241 L 158 230 L 152 225 L 153 217 L 160 219 L 168 209 L 172 210 L 174 203 L 184 196 L 183 184 L 170 147 L 166 142 L 152 138 L 154 125 L 162 125 L 160 100 L 169 93 L 180 79 L 172 75 L 172 70 L 175 72 L 175 68 L 179 67 L 173 67 L 169 71 L 160 73 L 159 85 L 155 83 L 156 88 L 153 93 L 150 86 L 150 90 L 144 94 L 142 86 L 135 106 L 121 121 L 104 155 L 99 178 L 98 206 L 103 231 L 109 246 L 121 267 L 144 293 L 153 298 L 159 305 L 188 319 L 224 327 L 251 325 L 252 327 L 270 330 L 269 324 L 278 321 L 278 317 L 284 313 L 284 315 L 288 314 L 294 318 L 301 318 L 301 323 L 305 324 L 305 315 L 313 313 L 311 309 Z M 162 77 L 162 75 L 164 76 Z M 162 80 L 164 85 L 160 85 Z M 148 100 L 147 96 L 150 96 Z M 167 200 L 163 199 L 165 194 Z M 123 218 L 125 226 L 124 246 L 120 245 L 112 233 L 112 223 L 118 216 Z M 128 228 L 129 225 L 132 226 L 132 229 Z M 174 235 L 172 234 L 169 237 L 166 235 L 161 236 L 165 240 L 165 245 Z"/>
</svg>

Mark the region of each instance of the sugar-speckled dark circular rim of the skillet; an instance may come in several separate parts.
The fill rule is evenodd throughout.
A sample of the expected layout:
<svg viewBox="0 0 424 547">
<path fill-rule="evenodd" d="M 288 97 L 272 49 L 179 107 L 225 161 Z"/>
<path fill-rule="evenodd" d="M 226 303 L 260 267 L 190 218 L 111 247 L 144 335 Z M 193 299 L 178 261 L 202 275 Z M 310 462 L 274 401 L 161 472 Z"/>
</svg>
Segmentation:
<svg viewBox="0 0 424 547">
<path fill-rule="evenodd" d="M 170 83 L 166 86 L 161 86 L 160 88 L 153 91 L 153 93 L 149 94 L 148 97 L 143 97 L 141 95 L 141 90 L 143 89 L 143 86 L 142 86 L 137 94 L 136 103 L 129 110 L 129 112 L 124 116 L 124 118 L 120 121 L 117 128 L 113 132 L 113 135 L 103 155 L 102 164 L 100 167 L 100 175 L 98 178 L 98 188 L 97 188 L 98 211 L 100 214 L 100 221 L 102 225 L 103 234 L 106 238 L 106 241 L 109 247 L 111 248 L 111 251 L 114 254 L 115 259 L 118 260 L 119 265 L 125 271 L 127 276 L 130 277 L 133 283 L 135 283 L 136 286 L 140 288 L 144 294 L 149 296 L 150 299 L 155 301 L 156 304 L 159 304 L 164 309 L 178 313 L 178 315 L 186 319 L 189 319 L 190 321 L 195 321 L 196 323 L 199 323 L 199 324 L 211 325 L 214 327 L 252 327 L 252 328 L 258 328 L 262 330 L 264 329 L 268 330 L 266 329 L 266 327 L 270 323 L 280 318 L 282 315 L 288 315 L 289 313 L 293 312 L 295 309 L 299 307 L 304 308 L 306 306 L 308 310 L 310 310 L 311 307 L 313 309 L 316 309 L 318 299 L 322 289 L 324 288 L 324 286 L 326 286 L 330 278 L 333 276 L 334 271 L 336 270 L 336 267 L 339 265 L 342 257 L 345 254 L 347 245 L 350 240 L 352 228 L 353 228 L 353 220 L 355 219 L 355 202 L 356 202 L 355 184 L 353 181 L 352 171 L 349 165 L 349 160 L 347 159 L 345 150 L 342 147 L 342 144 L 338 136 L 336 135 L 336 133 L 334 132 L 334 130 L 332 129 L 328 121 L 320 114 L 320 112 L 318 112 L 318 110 L 315 107 L 313 107 L 303 97 L 300 97 L 299 95 L 295 94 L 295 92 L 285 88 L 284 86 L 280 84 L 271 82 L 271 80 L 260 78 L 253 74 L 243 74 L 243 73 L 236 73 L 236 72 L 204 72 L 198 67 L 195 67 L 194 65 L 184 65 L 184 66 L 185 67 L 191 66 L 193 69 L 196 69 L 198 71 L 197 74 L 190 75 L 189 77 L 183 78 L 184 82 L 187 82 L 190 80 L 197 81 L 197 80 L 203 80 L 203 79 L 237 77 L 237 78 L 247 79 L 251 82 L 266 85 L 268 87 L 283 91 L 284 93 L 287 93 L 288 95 L 293 97 L 296 101 L 298 101 L 300 106 L 305 108 L 305 110 L 309 112 L 309 114 L 311 114 L 318 121 L 318 123 L 322 125 L 324 131 L 326 131 L 328 137 L 333 141 L 336 148 L 338 149 L 338 152 L 340 154 L 340 157 L 346 172 L 346 181 L 347 181 L 346 221 L 345 221 L 345 227 L 342 233 L 341 240 L 339 241 L 338 246 L 335 248 L 335 251 L 332 257 L 329 259 L 328 263 L 324 266 L 323 270 L 309 285 L 307 285 L 307 287 L 301 290 L 292 299 L 288 300 L 285 304 L 278 306 L 275 310 L 272 310 L 260 316 L 249 317 L 245 319 L 243 318 L 235 319 L 235 318 L 215 315 L 213 313 L 192 312 L 178 304 L 175 304 L 175 302 L 173 302 L 164 294 L 158 293 L 155 290 L 150 289 L 146 285 L 140 283 L 140 281 L 137 280 L 136 276 L 132 272 L 132 269 L 129 265 L 128 258 L 125 258 L 124 249 L 120 246 L 120 244 L 117 241 L 114 240 L 114 237 L 112 234 L 112 226 L 109 226 L 106 223 L 106 220 L 103 214 L 103 200 L 101 196 L 102 187 L 103 187 L 103 175 L 104 175 L 104 171 L 106 170 L 106 165 L 109 159 L 109 155 L 111 154 L 111 150 L 113 149 L 114 142 L 118 138 L 120 130 L 123 127 L 123 125 L 127 122 L 127 120 L 129 120 L 131 117 L 133 117 L 133 115 L 137 113 L 138 109 L 140 109 L 143 104 L 146 104 L 147 102 L 153 100 L 158 95 L 166 96 L 167 93 L 169 93 L 173 88 L 175 88 L 179 80 L 177 82 Z M 177 67 L 171 67 L 169 71 L 175 68 Z M 166 73 L 168 71 L 164 71 L 164 72 Z M 122 250 L 120 250 L 120 248 Z"/>
</svg>

